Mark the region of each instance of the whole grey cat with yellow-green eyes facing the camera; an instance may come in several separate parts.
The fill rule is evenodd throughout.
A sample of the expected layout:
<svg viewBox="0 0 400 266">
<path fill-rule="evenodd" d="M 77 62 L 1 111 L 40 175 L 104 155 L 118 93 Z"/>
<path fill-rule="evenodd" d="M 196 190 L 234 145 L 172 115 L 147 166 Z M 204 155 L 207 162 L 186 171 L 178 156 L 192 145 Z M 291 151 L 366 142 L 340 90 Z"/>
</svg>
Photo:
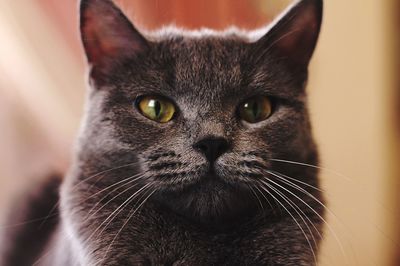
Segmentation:
<svg viewBox="0 0 400 266">
<path fill-rule="evenodd" d="M 10 233 L 3 264 L 315 265 L 305 88 L 322 6 L 297 1 L 263 31 L 141 34 L 112 1 L 82 0 L 84 122 L 68 174 L 25 219 L 58 189 L 60 215 Z"/>
</svg>

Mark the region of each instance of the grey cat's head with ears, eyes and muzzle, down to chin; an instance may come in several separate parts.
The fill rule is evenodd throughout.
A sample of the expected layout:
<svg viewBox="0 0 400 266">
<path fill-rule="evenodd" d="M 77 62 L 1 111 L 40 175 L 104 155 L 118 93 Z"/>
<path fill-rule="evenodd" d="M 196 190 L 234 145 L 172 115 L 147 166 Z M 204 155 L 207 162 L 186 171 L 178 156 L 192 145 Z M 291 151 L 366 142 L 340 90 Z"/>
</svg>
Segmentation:
<svg viewBox="0 0 400 266">
<path fill-rule="evenodd" d="M 271 172 L 290 174 L 275 159 L 316 164 L 305 84 L 321 17 L 321 0 L 303 0 L 264 35 L 142 35 L 111 1 L 83 0 L 90 91 L 70 190 L 131 186 L 198 219 L 252 210 Z"/>
</svg>

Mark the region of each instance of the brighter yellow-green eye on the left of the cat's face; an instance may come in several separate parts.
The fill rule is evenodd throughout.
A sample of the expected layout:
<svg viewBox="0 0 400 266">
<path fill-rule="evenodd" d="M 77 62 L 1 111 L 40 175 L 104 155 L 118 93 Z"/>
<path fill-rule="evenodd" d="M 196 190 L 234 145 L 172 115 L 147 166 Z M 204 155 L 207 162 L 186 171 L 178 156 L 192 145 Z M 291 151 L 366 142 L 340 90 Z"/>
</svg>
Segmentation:
<svg viewBox="0 0 400 266">
<path fill-rule="evenodd" d="M 159 123 L 171 121 L 176 112 L 175 105 L 168 99 L 159 96 L 143 96 L 136 100 L 140 113 Z"/>
</svg>

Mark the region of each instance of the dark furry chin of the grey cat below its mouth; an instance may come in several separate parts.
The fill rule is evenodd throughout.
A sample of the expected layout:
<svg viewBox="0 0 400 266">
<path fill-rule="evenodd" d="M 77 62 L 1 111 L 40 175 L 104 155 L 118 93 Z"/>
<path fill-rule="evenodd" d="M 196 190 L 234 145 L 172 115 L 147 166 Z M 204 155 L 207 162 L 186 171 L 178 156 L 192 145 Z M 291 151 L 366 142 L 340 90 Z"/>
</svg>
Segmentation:
<svg viewBox="0 0 400 266">
<path fill-rule="evenodd" d="M 215 226 L 240 223 L 259 209 L 246 185 L 229 184 L 214 177 L 176 191 L 161 190 L 155 199 L 178 215 Z"/>
</svg>

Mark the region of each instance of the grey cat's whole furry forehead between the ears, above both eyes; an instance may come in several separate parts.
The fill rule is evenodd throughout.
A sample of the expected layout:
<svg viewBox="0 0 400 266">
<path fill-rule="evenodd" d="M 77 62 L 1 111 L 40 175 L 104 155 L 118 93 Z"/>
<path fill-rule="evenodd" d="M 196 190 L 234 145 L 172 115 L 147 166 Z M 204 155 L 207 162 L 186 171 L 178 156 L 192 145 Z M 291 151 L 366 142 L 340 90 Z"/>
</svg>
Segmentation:
<svg viewBox="0 0 400 266">
<path fill-rule="evenodd" d="M 295 97 L 294 79 L 282 64 L 273 61 L 273 55 L 255 52 L 248 39 L 236 34 L 168 36 L 151 42 L 143 57 L 116 69 L 112 82 L 120 81 L 117 87 L 128 94 L 161 94 L 193 103 L 225 102 L 257 92 Z"/>
</svg>

